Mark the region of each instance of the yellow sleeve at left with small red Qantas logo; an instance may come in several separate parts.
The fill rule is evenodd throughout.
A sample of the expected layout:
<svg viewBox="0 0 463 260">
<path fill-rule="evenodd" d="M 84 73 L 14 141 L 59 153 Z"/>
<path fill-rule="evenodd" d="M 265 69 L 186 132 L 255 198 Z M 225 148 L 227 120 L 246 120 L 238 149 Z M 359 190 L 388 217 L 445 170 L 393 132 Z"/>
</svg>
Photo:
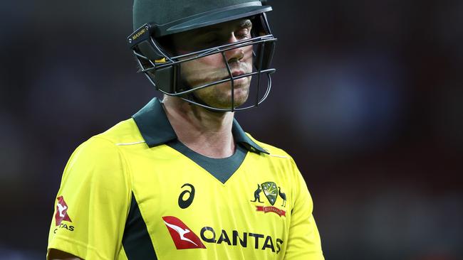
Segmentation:
<svg viewBox="0 0 463 260">
<path fill-rule="evenodd" d="M 69 159 L 54 204 L 48 251 L 115 259 L 130 205 L 130 180 L 117 146 L 93 137 Z M 48 259 L 48 256 L 47 256 Z"/>
</svg>

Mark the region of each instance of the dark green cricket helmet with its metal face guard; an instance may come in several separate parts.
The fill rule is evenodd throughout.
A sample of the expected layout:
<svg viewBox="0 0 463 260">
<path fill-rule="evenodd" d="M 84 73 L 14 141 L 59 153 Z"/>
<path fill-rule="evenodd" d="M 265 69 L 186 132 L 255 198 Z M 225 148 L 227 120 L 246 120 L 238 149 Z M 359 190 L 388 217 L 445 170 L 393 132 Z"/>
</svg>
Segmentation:
<svg viewBox="0 0 463 260">
<path fill-rule="evenodd" d="M 128 45 L 140 65 L 140 72 L 146 75 L 156 90 L 214 111 L 234 112 L 249 109 L 257 107 L 269 95 L 270 75 L 275 72 L 275 69 L 270 67 L 270 63 L 274 55 L 276 38 L 271 33 L 266 18 L 267 11 L 271 11 L 271 6 L 262 5 L 262 1 L 255 0 L 135 0 L 133 5 L 135 31 L 128 37 Z M 183 55 L 167 51 L 160 43 L 162 38 L 174 33 L 240 18 L 251 19 L 253 23 L 251 38 L 212 48 L 209 46 Z M 233 76 L 224 53 L 250 45 L 253 47 L 254 58 L 252 72 Z M 182 63 L 217 53 L 222 55 L 229 77 L 194 87 L 185 84 L 180 72 Z M 256 98 L 251 104 L 246 103 L 244 107 L 236 107 L 234 80 L 254 75 L 257 77 Z M 261 80 L 261 75 L 265 75 L 266 78 Z M 231 83 L 231 106 L 229 108 L 209 106 L 193 94 L 196 90 L 214 87 L 223 82 Z M 266 82 L 265 90 L 259 90 L 262 82 Z"/>
</svg>

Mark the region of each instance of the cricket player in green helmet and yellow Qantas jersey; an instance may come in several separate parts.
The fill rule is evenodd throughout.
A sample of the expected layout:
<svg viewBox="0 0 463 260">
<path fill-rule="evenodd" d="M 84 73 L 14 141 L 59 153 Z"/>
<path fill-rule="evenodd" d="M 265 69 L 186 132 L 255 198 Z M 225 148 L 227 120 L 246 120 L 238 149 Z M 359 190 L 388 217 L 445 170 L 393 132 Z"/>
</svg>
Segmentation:
<svg viewBox="0 0 463 260">
<path fill-rule="evenodd" d="M 164 97 L 74 151 L 47 259 L 323 259 L 293 159 L 234 119 L 271 88 L 268 11 L 135 0 L 128 45 Z"/>
</svg>

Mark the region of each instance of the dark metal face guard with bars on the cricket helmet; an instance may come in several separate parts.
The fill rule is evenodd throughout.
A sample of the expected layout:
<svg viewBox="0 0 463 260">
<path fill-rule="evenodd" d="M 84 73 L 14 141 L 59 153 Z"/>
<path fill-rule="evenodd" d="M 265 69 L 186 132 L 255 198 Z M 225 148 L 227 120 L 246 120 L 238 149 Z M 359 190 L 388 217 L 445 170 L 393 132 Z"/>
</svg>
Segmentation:
<svg viewBox="0 0 463 260">
<path fill-rule="evenodd" d="M 266 22 L 266 19 L 264 19 L 264 21 Z M 271 58 L 273 57 L 274 48 L 276 45 L 276 38 L 274 38 L 271 33 L 264 36 L 256 36 L 254 38 L 240 40 L 236 43 L 229 43 L 214 48 L 207 48 L 204 50 L 187 53 L 184 55 L 171 56 L 168 55 L 167 52 L 165 52 L 157 43 L 157 41 L 147 33 L 153 30 L 150 28 L 150 26 L 151 25 L 148 24 L 140 27 L 137 31 L 135 31 L 135 33 L 132 34 L 132 36 L 129 37 L 129 40 L 132 39 L 133 36 L 137 36 L 137 39 L 135 40 L 136 43 L 132 42 L 131 44 L 132 51 L 137 58 L 137 63 L 140 65 L 140 72 L 145 74 L 147 79 L 150 80 L 152 85 L 155 86 L 156 90 L 159 90 L 163 94 L 167 94 L 173 97 L 180 97 L 186 102 L 196 104 L 200 107 L 217 112 L 234 112 L 257 107 L 259 104 L 261 104 L 261 102 L 264 102 L 266 97 L 268 97 L 271 90 L 271 74 L 276 71 L 276 69 L 270 67 Z M 268 26 L 268 24 L 264 23 L 264 26 Z M 140 31 L 142 31 L 142 33 L 140 33 Z M 269 32 L 269 30 L 267 32 Z M 233 76 L 229 63 L 227 62 L 227 58 L 225 57 L 225 52 L 250 45 L 253 47 L 252 55 L 254 60 L 252 72 L 244 73 L 239 76 Z M 227 69 L 228 77 L 214 82 L 207 82 L 207 84 L 199 85 L 196 87 L 191 87 L 184 84 L 180 77 L 180 67 L 182 63 L 204 58 L 208 55 L 215 55 L 217 53 L 222 55 L 225 68 Z M 234 80 L 239 80 L 243 77 L 252 77 L 254 75 L 257 76 L 256 90 L 254 90 L 254 92 L 256 92 L 256 98 L 254 101 L 248 100 L 248 102 L 245 102 L 242 107 L 236 107 L 234 100 Z M 261 75 L 266 75 L 264 80 L 261 79 Z M 265 80 L 266 89 L 262 91 L 260 85 Z M 214 87 L 214 85 L 218 85 L 224 82 L 231 82 L 231 107 L 229 108 L 209 106 L 201 100 L 198 100 L 193 94 L 194 91 L 207 87 Z"/>
</svg>

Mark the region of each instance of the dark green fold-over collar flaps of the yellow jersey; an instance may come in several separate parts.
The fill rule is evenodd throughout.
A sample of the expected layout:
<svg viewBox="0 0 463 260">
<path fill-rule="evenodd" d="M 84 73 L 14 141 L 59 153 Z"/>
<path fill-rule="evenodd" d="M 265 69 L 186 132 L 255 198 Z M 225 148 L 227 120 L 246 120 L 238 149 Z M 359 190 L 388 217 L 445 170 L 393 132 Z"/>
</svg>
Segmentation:
<svg viewBox="0 0 463 260">
<path fill-rule="evenodd" d="M 160 100 L 156 97 L 151 99 L 151 101 L 139 112 L 134 114 L 132 118 L 135 120 L 135 124 L 137 124 L 143 139 L 145 139 L 149 147 L 159 146 L 177 139 L 177 134 L 175 134 L 174 129 L 172 129 Z M 236 143 L 241 143 L 248 151 L 254 153 L 269 153 L 244 133 L 236 119 L 233 119 L 231 134 L 233 134 Z"/>
</svg>

